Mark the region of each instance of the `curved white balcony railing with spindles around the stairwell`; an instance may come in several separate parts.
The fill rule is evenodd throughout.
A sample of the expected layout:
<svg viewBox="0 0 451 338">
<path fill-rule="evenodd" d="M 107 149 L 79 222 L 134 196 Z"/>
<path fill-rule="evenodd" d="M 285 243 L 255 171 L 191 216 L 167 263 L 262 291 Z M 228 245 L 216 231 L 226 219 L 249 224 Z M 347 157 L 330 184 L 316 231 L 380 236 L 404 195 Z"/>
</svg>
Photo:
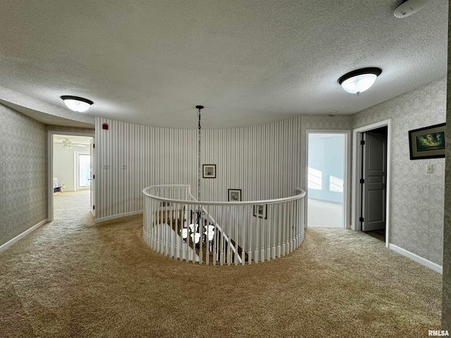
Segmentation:
<svg viewBox="0 0 451 338">
<path fill-rule="evenodd" d="M 189 185 L 154 185 L 144 194 L 144 242 L 172 258 L 206 264 L 269 261 L 304 239 L 305 192 L 265 201 L 196 201 Z"/>
</svg>

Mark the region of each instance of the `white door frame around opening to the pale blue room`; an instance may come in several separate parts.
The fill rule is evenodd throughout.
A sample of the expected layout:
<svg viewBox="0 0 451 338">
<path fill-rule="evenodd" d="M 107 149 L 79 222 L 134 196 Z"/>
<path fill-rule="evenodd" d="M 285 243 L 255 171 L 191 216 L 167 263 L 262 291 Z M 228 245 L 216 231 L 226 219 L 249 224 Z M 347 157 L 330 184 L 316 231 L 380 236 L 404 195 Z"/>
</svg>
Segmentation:
<svg viewBox="0 0 451 338">
<path fill-rule="evenodd" d="M 305 198 L 304 198 L 304 227 L 307 227 L 309 213 L 309 134 L 344 134 L 345 135 L 345 174 L 343 175 L 343 227 L 350 228 L 350 201 L 351 201 L 351 131 L 350 130 L 316 130 L 308 129 L 305 131 Z"/>
</svg>

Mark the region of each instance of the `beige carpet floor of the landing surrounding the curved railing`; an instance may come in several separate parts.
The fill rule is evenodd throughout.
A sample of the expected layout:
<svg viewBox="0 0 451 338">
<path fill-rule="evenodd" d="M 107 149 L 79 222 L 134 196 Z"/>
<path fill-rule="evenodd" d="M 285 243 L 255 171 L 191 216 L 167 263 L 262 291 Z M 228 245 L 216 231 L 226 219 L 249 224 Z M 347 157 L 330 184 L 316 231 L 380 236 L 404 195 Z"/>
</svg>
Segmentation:
<svg viewBox="0 0 451 338">
<path fill-rule="evenodd" d="M 441 275 L 383 242 L 309 228 L 283 258 L 174 261 L 140 215 L 94 225 L 89 197 L 55 197 L 54 222 L 0 253 L 0 337 L 428 337 Z"/>
</svg>

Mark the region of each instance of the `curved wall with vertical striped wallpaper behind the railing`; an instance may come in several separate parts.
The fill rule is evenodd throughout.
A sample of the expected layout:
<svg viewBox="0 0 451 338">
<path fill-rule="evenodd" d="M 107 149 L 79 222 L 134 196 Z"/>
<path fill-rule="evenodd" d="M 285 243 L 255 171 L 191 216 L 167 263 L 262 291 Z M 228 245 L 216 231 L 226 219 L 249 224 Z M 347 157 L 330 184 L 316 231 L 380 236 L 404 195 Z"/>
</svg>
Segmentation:
<svg viewBox="0 0 451 338">
<path fill-rule="evenodd" d="M 197 196 L 197 130 L 96 118 L 95 143 L 97 221 L 142 211 L 142 189 L 153 184 L 190 184 Z M 242 189 L 243 201 L 294 194 L 302 179 L 300 145 L 301 116 L 202 130 L 201 162 L 216 164 L 216 179 L 202 178 L 201 199 L 227 201 L 230 188 Z"/>
</svg>

